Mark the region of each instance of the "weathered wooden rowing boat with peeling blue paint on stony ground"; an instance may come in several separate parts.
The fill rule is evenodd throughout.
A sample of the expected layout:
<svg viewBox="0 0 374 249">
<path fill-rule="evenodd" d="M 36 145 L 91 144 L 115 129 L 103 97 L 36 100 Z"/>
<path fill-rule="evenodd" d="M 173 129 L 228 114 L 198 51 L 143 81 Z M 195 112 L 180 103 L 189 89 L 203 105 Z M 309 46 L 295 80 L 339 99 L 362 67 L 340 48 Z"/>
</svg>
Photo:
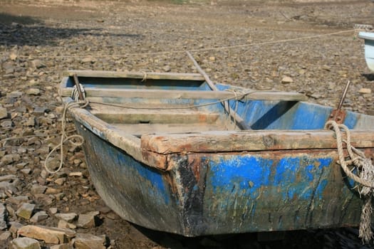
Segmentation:
<svg viewBox="0 0 374 249">
<path fill-rule="evenodd" d="M 360 222 L 363 202 L 324 129 L 332 107 L 292 92 L 212 90 L 199 74 L 96 71 L 63 78 L 66 103 L 75 74 L 90 102 L 70 110 L 90 177 L 125 220 L 185 236 Z M 345 115 L 353 146 L 372 157 L 374 117 Z"/>
</svg>

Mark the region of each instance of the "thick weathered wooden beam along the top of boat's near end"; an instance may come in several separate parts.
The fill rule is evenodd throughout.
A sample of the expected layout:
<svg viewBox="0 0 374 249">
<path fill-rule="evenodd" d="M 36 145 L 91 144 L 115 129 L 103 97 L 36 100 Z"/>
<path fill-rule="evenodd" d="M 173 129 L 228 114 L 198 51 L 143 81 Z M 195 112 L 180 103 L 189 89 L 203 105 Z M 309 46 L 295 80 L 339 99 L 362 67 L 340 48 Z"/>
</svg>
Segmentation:
<svg viewBox="0 0 374 249">
<path fill-rule="evenodd" d="M 160 154 L 178 152 L 241 152 L 284 149 L 335 149 L 333 132 L 323 130 L 251 130 L 240 132 L 194 132 L 144 134 L 142 149 Z M 374 147 L 373 132 L 351 131 L 351 144 Z"/>
</svg>

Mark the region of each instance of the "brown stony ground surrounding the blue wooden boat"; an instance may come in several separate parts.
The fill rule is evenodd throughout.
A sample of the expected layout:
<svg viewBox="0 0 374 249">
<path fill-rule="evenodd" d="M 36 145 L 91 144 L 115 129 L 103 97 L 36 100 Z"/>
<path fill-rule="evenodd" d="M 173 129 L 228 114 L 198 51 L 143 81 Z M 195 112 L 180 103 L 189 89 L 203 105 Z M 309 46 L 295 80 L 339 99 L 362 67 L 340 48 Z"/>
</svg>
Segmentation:
<svg viewBox="0 0 374 249">
<path fill-rule="evenodd" d="M 67 145 L 58 174 L 48 174 L 43 162 L 61 133 L 63 71 L 196 72 L 187 50 L 219 83 L 303 92 L 322 105 L 336 106 L 350 80 L 344 108 L 374 115 L 374 75 L 353 30 L 355 23 L 374 25 L 372 1 L 0 0 L 0 6 L 0 248 L 370 248 L 355 228 L 295 231 L 275 241 L 148 231 L 105 206 L 79 147 Z M 58 166 L 58 155 L 51 163 Z M 73 243 L 54 245 L 71 237 Z"/>
</svg>

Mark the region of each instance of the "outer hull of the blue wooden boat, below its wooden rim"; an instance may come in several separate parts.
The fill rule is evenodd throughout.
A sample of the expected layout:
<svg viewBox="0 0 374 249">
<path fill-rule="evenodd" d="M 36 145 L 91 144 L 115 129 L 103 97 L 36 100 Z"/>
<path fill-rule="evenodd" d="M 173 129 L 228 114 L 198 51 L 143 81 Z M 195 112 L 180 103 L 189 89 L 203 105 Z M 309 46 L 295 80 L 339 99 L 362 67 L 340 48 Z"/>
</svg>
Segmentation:
<svg viewBox="0 0 374 249">
<path fill-rule="evenodd" d="M 362 201 L 336 164 L 335 149 L 175 153 L 164 171 L 76 127 L 98 194 L 140 226 L 197 236 L 360 222 Z"/>
</svg>

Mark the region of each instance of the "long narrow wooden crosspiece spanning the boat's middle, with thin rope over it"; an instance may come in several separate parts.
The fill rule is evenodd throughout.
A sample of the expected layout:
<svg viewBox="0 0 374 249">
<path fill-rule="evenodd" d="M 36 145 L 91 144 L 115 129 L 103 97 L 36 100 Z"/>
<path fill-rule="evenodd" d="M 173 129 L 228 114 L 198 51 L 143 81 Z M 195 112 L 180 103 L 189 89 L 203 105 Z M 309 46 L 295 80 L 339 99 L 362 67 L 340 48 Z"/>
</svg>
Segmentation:
<svg viewBox="0 0 374 249">
<path fill-rule="evenodd" d="M 62 88 L 61 95 L 71 96 L 73 88 Z M 206 99 L 223 100 L 236 97 L 230 91 L 203 90 L 145 90 L 145 89 L 91 89 L 85 88 L 87 97 L 142 97 L 154 99 Z M 239 93 L 240 95 L 240 93 Z M 274 101 L 305 101 L 307 97 L 298 92 L 249 91 L 244 99 Z"/>
</svg>

